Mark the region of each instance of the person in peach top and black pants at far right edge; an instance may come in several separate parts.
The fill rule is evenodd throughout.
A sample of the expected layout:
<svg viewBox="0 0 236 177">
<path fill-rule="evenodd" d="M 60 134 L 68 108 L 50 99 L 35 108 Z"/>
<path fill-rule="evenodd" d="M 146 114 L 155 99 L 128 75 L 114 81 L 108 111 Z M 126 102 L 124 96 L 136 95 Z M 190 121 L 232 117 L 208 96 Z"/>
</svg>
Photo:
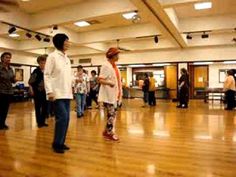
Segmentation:
<svg viewBox="0 0 236 177">
<path fill-rule="evenodd" d="M 225 110 L 233 110 L 235 107 L 235 79 L 233 76 L 233 70 L 227 71 L 227 76 L 224 82 L 224 91 L 225 91 L 225 101 L 226 108 Z"/>
</svg>

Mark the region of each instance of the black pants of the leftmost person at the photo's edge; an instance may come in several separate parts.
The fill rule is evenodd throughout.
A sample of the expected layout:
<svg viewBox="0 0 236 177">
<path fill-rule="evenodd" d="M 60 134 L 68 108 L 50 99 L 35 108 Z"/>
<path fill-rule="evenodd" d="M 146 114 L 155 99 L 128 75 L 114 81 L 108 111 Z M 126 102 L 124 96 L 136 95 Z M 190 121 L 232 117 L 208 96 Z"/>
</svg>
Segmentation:
<svg viewBox="0 0 236 177">
<path fill-rule="evenodd" d="M 10 106 L 11 95 L 0 93 L 0 127 L 6 125 L 7 113 Z"/>
</svg>

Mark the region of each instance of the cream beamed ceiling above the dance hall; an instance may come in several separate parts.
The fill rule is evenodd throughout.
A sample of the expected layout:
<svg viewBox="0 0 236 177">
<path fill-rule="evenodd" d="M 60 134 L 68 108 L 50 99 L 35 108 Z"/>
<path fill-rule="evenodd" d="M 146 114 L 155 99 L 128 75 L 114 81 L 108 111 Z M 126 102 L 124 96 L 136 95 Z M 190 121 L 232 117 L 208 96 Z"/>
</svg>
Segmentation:
<svg viewBox="0 0 236 177">
<path fill-rule="evenodd" d="M 11 7 L 10 12 L 0 12 L 0 21 L 50 36 L 64 32 L 73 43 L 71 56 L 104 53 L 108 47 L 117 45 L 117 39 L 120 47 L 146 52 L 231 45 L 231 38 L 236 37 L 236 0 L 211 0 L 212 9 L 196 11 L 193 4 L 198 1 L 202 0 L 18 0 L 16 10 Z M 122 17 L 134 10 L 141 17 L 138 23 Z M 83 28 L 73 24 L 80 20 L 98 23 Z M 52 31 L 53 25 L 59 29 Z M 45 47 L 52 47 L 51 43 L 39 42 L 34 37 L 28 39 L 21 30 L 18 31 L 21 37 L 10 38 L 8 28 L 0 23 L 0 39 L 4 39 L 0 40 L 0 48 L 39 54 Z M 206 30 L 211 31 L 207 41 L 200 37 Z M 188 41 L 183 32 L 198 33 L 193 33 L 195 39 Z M 159 35 L 158 44 L 154 43 L 155 35 Z"/>
</svg>

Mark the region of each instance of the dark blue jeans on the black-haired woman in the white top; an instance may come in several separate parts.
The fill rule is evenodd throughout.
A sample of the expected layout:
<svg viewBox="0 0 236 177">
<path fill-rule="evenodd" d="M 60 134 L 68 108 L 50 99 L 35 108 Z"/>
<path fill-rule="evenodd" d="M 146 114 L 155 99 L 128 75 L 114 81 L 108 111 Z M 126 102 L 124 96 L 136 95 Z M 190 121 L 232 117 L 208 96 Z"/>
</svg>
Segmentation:
<svg viewBox="0 0 236 177">
<path fill-rule="evenodd" d="M 54 130 L 54 147 L 61 147 L 65 143 L 66 133 L 70 120 L 70 100 L 58 99 L 55 101 L 55 130 Z"/>
</svg>

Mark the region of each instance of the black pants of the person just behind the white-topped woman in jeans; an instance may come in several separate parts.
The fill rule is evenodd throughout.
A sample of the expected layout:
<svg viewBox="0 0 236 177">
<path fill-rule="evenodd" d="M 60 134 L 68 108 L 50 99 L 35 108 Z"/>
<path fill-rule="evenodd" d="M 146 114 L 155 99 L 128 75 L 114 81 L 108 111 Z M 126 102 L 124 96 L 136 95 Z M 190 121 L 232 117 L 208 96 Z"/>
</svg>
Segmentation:
<svg viewBox="0 0 236 177">
<path fill-rule="evenodd" d="M 34 107 L 36 121 L 38 125 L 45 124 L 45 119 L 47 116 L 47 100 L 45 93 L 37 93 L 34 96 Z"/>
</svg>

